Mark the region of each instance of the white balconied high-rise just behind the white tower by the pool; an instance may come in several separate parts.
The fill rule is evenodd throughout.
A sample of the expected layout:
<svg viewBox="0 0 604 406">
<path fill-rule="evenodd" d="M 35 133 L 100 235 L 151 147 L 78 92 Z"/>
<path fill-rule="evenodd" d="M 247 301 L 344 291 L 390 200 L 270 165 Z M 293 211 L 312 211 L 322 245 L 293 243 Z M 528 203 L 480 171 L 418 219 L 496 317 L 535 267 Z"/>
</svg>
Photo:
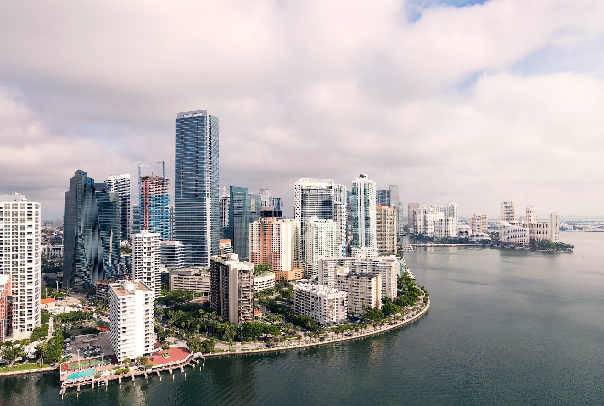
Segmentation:
<svg viewBox="0 0 604 406">
<path fill-rule="evenodd" d="M 140 280 L 153 290 L 153 300 L 161 294 L 161 234 L 141 230 L 132 237 L 132 279 Z"/>
</svg>

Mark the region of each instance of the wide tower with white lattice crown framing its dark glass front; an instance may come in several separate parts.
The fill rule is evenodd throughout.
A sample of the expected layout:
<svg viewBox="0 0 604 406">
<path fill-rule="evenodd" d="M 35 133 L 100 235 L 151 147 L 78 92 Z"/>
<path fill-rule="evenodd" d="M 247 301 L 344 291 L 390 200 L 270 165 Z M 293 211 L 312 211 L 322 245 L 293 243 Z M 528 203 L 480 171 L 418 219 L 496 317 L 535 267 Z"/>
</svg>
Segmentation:
<svg viewBox="0 0 604 406">
<path fill-rule="evenodd" d="M 296 260 L 306 260 L 306 227 L 308 219 L 333 219 L 333 180 L 300 178 L 294 184 L 294 218 L 300 221 L 300 253 Z"/>
</svg>

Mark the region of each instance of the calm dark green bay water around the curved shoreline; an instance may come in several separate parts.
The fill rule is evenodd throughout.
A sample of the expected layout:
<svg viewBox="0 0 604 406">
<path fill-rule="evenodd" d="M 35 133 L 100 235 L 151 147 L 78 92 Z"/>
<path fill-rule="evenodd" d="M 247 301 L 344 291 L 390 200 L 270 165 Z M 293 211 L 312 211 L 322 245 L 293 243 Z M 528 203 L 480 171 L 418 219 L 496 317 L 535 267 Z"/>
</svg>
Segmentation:
<svg viewBox="0 0 604 406">
<path fill-rule="evenodd" d="M 307 350 L 211 359 L 201 370 L 61 401 L 53 374 L 0 379 L 0 405 L 602 405 L 604 233 L 572 254 L 406 253 L 431 307 L 394 332 Z"/>
</svg>

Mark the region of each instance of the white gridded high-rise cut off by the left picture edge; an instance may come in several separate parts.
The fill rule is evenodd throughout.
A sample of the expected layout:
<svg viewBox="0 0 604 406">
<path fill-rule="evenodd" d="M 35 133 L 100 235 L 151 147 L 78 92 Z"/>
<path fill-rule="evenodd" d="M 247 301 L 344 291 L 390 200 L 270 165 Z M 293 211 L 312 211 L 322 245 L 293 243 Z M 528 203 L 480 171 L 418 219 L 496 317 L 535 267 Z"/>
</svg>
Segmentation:
<svg viewBox="0 0 604 406">
<path fill-rule="evenodd" d="M 0 274 L 11 275 L 12 336 L 22 340 L 40 326 L 40 204 L 24 195 L 0 195 Z"/>
</svg>

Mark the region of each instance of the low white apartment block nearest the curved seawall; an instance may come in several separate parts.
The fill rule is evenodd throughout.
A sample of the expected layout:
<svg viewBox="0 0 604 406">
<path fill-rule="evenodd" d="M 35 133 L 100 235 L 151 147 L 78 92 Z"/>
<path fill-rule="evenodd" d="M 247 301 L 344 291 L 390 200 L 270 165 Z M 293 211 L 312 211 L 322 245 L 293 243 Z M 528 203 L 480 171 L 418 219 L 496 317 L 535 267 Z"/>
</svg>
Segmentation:
<svg viewBox="0 0 604 406">
<path fill-rule="evenodd" d="M 294 285 L 294 312 L 307 315 L 321 326 L 346 320 L 347 293 L 314 283 Z"/>
</svg>

